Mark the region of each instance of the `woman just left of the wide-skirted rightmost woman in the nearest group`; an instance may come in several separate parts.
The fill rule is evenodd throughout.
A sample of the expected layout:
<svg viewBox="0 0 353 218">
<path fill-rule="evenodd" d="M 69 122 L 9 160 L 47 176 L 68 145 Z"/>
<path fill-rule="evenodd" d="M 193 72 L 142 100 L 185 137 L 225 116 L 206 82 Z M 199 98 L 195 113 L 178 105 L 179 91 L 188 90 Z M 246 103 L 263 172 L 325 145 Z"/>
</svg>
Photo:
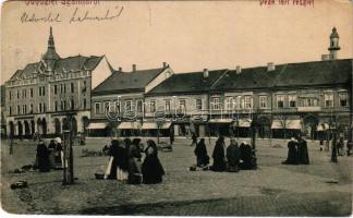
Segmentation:
<svg viewBox="0 0 353 218">
<path fill-rule="evenodd" d="M 139 138 L 134 138 L 129 147 L 129 177 L 127 183 L 139 184 L 141 183 L 141 153 L 139 153 Z"/>
</svg>

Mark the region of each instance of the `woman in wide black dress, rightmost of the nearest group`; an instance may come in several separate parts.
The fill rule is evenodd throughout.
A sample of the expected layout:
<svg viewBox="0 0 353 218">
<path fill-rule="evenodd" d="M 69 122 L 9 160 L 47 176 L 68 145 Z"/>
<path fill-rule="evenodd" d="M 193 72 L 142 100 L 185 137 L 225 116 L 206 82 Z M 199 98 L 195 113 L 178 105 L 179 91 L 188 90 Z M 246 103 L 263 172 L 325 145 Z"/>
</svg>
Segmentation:
<svg viewBox="0 0 353 218">
<path fill-rule="evenodd" d="M 158 159 L 158 149 L 154 141 L 147 141 L 147 148 L 145 149 L 146 157 L 142 165 L 143 183 L 156 184 L 162 182 L 165 169 Z"/>
</svg>

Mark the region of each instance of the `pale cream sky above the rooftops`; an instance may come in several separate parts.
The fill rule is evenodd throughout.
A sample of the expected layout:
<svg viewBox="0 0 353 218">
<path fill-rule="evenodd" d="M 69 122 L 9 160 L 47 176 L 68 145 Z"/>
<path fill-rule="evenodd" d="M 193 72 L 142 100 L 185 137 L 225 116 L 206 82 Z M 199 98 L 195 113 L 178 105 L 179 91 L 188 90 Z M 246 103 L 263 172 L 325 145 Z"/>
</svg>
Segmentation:
<svg viewBox="0 0 353 218">
<path fill-rule="evenodd" d="M 168 62 L 175 73 L 203 69 L 235 69 L 290 62 L 319 61 L 328 53 L 333 26 L 340 35 L 339 58 L 352 58 L 353 4 L 349 0 L 312 0 L 314 5 L 260 5 L 243 1 L 99 1 L 96 5 L 27 5 L 7 2 L 1 11 L 1 84 L 47 49 L 53 28 L 60 57 L 101 56 L 114 69 L 160 68 Z M 109 21 L 70 24 L 74 11 Z M 23 22 L 60 13 L 61 22 Z"/>
</svg>

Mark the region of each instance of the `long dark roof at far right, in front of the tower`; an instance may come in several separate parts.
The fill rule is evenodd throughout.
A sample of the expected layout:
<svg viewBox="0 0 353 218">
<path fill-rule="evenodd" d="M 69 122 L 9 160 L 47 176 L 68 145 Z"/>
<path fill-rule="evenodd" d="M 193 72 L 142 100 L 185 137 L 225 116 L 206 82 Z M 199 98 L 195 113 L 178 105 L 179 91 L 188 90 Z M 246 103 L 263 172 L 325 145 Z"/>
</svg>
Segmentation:
<svg viewBox="0 0 353 218">
<path fill-rule="evenodd" d="M 214 89 L 349 84 L 352 80 L 351 74 L 352 59 L 288 63 L 276 65 L 276 70 L 270 72 L 267 72 L 267 66 L 243 69 L 240 74 L 236 74 L 236 71 L 229 71 L 214 86 Z"/>
</svg>

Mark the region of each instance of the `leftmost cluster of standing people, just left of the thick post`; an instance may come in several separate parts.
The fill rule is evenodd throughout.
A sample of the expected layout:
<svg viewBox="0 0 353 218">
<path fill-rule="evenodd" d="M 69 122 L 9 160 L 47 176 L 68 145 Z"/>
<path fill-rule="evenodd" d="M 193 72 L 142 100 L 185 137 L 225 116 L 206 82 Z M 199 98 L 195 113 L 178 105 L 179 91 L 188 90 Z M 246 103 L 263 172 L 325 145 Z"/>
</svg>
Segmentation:
<svg viewBox="0 0 353 218">
<path fill-rule="evenodd" d="M 49 172 L 51 169 L 63 168 L 63 149 L 60 137 L 51 140 L 48 147 L 44 141 L 39 141 L 36 152 L 34 169 Z"/>
</svg>

